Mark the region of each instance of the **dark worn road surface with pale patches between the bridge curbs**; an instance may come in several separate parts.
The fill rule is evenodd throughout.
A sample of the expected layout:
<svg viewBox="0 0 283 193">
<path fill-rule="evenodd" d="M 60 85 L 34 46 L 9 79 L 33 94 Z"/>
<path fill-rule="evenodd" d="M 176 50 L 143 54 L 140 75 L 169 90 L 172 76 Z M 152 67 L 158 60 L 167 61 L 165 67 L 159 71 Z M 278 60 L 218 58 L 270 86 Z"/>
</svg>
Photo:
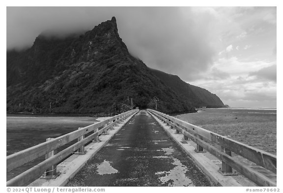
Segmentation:
<svg viewBox="0 0 283 193">
<path fill-rule="evenodd" d="M 67 186 L 212 186 L 145 110 L 134 115 Z"/>
</svg>

